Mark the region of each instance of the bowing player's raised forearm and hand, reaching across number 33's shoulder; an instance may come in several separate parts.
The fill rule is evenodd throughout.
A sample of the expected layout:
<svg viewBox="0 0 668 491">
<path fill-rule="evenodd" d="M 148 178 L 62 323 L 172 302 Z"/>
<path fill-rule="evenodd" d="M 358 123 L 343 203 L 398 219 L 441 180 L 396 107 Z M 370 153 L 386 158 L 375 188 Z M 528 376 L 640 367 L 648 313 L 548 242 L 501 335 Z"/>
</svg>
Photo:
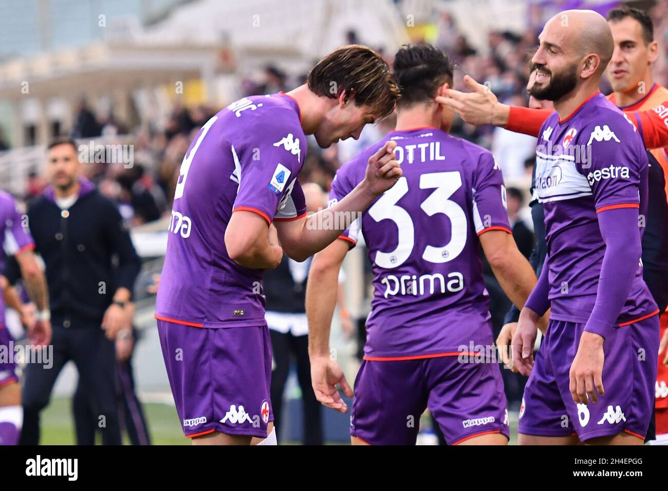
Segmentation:
<svg viewBox="0 0 668 491">
<path fill-rule="evenodd" d="M 364 212 L 378 196 L 394 186 L 401 177 L 401 166 L 394 156 L 395 146 L 394 141 L 386 142 L 369 157 L 364 180 L 331 208 L 299 220 L 277 222 L 283 251 L 295 261 L 306 261 L 336 240 L 358 213 Z"/>
</svg>

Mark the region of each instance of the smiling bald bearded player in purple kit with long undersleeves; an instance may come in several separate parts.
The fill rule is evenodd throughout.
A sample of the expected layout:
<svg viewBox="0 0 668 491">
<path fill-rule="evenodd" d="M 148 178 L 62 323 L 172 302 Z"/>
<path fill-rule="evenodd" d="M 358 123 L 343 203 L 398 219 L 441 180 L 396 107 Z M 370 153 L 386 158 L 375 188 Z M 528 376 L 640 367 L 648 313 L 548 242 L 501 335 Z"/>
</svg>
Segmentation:
<svg viewBox="0 0 668 491">
<path fill-rule="evenodd" d="M 643 444 L 654 404 L 659 317 L 643 281 L 647 155 L 599 92 L 613 54 L 605 19 L 563 11 L 546 23 L 530 94 L 554 102 L 536 148 L 546 256 L 520 313 L 514 362 L 530 377 L 519 444 Z M 534 360 L 535 321 L 550 323 Z"/>
</svg>

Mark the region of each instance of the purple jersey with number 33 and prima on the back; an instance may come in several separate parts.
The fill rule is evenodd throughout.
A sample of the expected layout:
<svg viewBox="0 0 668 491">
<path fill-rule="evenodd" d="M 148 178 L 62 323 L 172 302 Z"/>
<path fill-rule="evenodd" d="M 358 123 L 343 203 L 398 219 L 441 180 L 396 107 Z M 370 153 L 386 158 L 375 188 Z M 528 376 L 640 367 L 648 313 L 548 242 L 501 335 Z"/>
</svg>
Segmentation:
<svg viewBox="0 0 668 491">
<path fill-rule="evenodd" d="M 365 359 L 492 345 L 478 236 L 510 233 L 500 167 L 442 130 L 394 131 L 339 169 L 330 206 L 363 180 L 387 140 L 397 142 L 403 176 L 341 235 L 354 244 L 361 228 L 373 269 Z"/>
</svg>

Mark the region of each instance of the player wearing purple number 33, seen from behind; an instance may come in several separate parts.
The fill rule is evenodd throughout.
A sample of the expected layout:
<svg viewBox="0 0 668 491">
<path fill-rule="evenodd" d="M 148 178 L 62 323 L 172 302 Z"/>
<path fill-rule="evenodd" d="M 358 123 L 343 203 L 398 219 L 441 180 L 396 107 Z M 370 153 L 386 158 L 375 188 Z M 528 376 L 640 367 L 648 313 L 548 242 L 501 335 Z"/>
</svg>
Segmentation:
<svg viewBox="0 0 668 491">
<path fill-rule="evenodd" d="M 353 444 L 415 444 L 429 407 L 448 444 L 508 442 L 479 250 L 510 299 L 524 305 L 536 284 L 510 232 L 500 167 L 490 152 L 448 135 L 454 113 L 436 103 L 452 65 L 430 45 L 394 59 L 401 87 L 396 129 L 343 165 L 330 206 L 364 178 L 369 156 L 396 142 L 403 176 L 313 259 L 307 285 L 309 355 L 316 397 L 347 412 L 351 391 L 329 352 L 341 263 L 363 234 L 374 295 L 364 360 L 355 380 Z"/>
</svg>

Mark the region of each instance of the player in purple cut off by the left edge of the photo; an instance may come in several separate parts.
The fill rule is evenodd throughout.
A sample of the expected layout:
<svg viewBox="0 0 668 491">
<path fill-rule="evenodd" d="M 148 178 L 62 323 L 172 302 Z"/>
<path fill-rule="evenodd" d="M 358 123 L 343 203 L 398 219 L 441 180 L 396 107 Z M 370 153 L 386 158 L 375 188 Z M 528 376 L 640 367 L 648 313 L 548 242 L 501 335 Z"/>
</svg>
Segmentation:
<svg viewBox="0 0 668 491">
<path fill-rule="evenodd" d="M 4 253 L 16 257 L 25 287 L 37 306 L 35 324 L 29 327 L 28 337 L 35 347 L 43 347 L 51 340 L 49 321 L 49 293 L 44 273 L 35 259 L 35 243 L 27 223 L 17 211 L 14 198 L 0 191 L 0 236 Z M 4 265 L 0 251 L 0 272 Z M 23 424 L 21 385 L 16 373 L 11 335 L 5 326 L 5 303 L 0 293 L 0 445 L 15 445 Z"/>
</svg>

